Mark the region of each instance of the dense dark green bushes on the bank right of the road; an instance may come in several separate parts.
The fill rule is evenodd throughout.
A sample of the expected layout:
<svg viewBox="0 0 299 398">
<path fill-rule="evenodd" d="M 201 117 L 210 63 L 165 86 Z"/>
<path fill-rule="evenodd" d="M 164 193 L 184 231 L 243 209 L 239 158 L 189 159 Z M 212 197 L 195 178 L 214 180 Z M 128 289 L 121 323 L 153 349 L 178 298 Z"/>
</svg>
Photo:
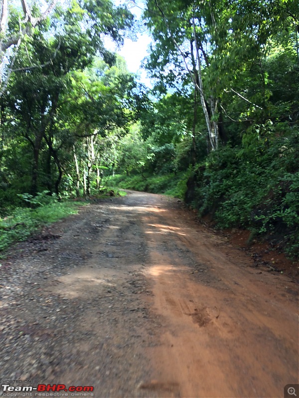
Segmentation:
<svg viewBox="0 0 299 398">
<path fill-rule="evenodd" d="M 277 141 L 254 154 L 240 156 L 239 148 L 229 146 L 211 153 L 192 175 L 189 204 L 200 216 L 210 214 L 218 228 L 249 229 L 297 259 L 299 148 L 290 142 L 292 156 L 281 156 Z"/>
</svg>

